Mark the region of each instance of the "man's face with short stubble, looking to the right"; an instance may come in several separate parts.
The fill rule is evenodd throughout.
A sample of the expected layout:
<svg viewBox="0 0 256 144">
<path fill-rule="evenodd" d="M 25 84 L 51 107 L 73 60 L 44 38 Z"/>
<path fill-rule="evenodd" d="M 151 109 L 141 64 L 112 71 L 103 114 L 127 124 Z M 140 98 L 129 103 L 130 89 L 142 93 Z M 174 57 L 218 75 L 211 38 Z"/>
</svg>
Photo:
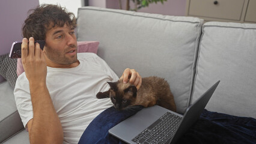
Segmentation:
<svg viewBox="0 0 256 144">
<path fill-rule="evenodd" d="M 70 67 L 78 61 L 75 29 L 67 25 L 46 32 L 46 63 L 49 67 Z"/>
</svg>

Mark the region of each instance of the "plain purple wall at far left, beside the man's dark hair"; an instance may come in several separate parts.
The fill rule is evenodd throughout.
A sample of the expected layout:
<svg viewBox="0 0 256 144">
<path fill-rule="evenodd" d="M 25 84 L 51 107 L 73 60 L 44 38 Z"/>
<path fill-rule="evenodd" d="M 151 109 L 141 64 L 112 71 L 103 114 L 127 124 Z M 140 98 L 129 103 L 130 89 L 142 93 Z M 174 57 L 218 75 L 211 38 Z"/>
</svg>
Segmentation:
<svg viewBox="0 0 256 144">
<path fill-rule="evenodd" d="M 28 10 L 37 5 L 38 0 L 0 1 L 0 55 L 10 52 L 13 41 L 22 40 L 21 28 Z"/>
</svg>

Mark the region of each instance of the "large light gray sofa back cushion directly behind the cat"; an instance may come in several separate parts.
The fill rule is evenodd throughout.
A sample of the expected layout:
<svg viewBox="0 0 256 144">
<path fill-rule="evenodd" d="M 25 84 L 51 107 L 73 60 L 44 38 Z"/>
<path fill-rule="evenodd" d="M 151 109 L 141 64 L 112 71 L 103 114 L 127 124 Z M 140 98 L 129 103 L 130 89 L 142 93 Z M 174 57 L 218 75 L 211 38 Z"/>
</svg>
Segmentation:
<svg viewBox="0 0 256 144">
<path fill-rule="evenodd" d="M 98 55 L 121 76 L 135 68 L 142 77 L 165 78 L 177 111 L 190 102 L 203 20 L 124 10 L 78 10 L 78 41 L 99 41 Z"/>
</svg>

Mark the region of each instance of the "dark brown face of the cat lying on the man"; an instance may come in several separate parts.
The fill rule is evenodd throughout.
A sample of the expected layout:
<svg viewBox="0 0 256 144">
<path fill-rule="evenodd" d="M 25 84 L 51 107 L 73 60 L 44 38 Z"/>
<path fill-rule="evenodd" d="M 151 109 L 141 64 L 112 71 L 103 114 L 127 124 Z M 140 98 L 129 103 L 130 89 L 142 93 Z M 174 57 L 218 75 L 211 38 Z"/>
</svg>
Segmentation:
<svg viewBox="0 0 256 144">
<path fill-rule="evenodd" d="M 108 83 L 111 87 L 109 97 L 111 98 L 115 109 L 123 110 L 135 103 L 137 89 L 134 85 L 120 81 Z"/>
</svg>

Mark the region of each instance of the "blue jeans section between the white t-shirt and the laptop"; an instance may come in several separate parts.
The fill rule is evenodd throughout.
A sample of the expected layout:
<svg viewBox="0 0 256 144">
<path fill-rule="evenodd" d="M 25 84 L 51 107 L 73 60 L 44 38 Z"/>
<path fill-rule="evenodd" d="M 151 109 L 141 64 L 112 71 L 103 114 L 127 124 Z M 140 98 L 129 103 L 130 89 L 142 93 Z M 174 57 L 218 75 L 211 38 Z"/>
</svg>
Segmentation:
<svg viewBox="0 0 256 144">
<path fill-rule="evenodd" d="M 88 125 L 82 134 L 79 144 L 81 143 L 124 143 L 108 133 L 108 130 L 123 121 L 129 116 L 135 115 L 136 112 L 142 109 L 142 106 L 135 106 L 125 110 L 116 110 L 114 107 L 109 107 L 98 115 Z"/>
</svg>

